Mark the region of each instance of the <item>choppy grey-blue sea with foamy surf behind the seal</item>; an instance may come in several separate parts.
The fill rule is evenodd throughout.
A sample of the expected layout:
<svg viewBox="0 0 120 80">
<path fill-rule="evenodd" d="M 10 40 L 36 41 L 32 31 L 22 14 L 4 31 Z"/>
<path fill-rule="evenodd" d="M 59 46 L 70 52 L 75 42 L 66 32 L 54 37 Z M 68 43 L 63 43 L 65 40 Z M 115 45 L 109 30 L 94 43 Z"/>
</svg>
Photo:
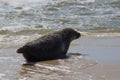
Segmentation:
<svg viewBox="0 0 120 80">
<path fill-rule="evenodd" d="M 119 0 L 0 0 L 0 48 L 16 47 L 49 31 L 120 36 Z"/>
</svg>

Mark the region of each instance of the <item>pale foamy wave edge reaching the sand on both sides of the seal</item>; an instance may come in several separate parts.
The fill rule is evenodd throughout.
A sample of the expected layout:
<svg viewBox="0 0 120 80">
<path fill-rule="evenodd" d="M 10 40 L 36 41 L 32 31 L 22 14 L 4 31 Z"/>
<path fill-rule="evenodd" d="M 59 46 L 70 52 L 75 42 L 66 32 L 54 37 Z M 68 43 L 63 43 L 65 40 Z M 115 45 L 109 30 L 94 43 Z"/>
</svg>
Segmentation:
<svg viewBox="0 0 120 80">
<path fill-rule="evenodd" d="M 0 35 L 0 48 L 19 47 L 26 42 L 32 41 L 41 37 L 42 35 L 54 31 L 53 29 L 40 29 L 40 30 L 21 30 L 18 32 L 7 32 Z M 2 32 L 2 33 L 3 33 Z M 93 33 L 79 31 L 82 37 L 95 37 L 95 38 L 108 38 L 108 37 L 120 37 L 119 32 L 109 33 Z"/>
</svg>

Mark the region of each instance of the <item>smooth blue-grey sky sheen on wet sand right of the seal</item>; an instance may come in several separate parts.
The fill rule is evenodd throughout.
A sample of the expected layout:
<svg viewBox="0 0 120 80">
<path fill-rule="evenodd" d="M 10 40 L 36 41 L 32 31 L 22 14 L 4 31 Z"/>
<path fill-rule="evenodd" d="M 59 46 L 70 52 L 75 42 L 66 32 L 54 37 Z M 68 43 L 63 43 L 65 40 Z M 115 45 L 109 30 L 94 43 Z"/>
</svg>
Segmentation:
<svg viewBox="0 0 120 80">
<path fill-rule="evenodd" d="M 78 52 L 85 58 L 94 59 L 98 62 L 120 62 L 120 37 L 81 37 L 70 46 L 69 52 Z M 73 47 L 72 47 L 73 46 Z"/>
</svg>

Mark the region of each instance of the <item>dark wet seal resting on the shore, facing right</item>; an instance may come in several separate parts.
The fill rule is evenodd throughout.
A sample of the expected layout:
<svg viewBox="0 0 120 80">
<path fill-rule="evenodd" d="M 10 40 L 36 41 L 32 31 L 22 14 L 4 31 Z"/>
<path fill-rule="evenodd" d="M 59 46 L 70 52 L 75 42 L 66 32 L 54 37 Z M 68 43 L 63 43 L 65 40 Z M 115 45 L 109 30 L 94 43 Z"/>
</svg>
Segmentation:
<svg viewBox="0 0 120 80">
<path fill-rule="evenodd" d="M 17 53 L 22 53 L 27 63 L 65 58 L 71 41 L 80 36 L 74 29 L 65 28 L 26 43 Z"/>
</svg>

